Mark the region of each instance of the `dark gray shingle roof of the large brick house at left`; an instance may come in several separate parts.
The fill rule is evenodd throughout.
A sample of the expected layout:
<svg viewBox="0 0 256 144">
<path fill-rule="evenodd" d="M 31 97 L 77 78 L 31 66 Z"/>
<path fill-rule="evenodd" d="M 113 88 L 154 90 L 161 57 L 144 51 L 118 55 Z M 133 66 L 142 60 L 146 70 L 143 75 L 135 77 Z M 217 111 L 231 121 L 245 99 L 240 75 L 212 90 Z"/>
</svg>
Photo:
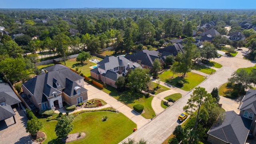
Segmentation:
<svg viewBox="0 0 256 144">
<path fill-rule="evenodd" d="M 85 88 L 82 88 L 74 82 L 83 79 L 83 77 L 66 66 L 54 65 L 46 69 L 48 71 L 47 73 L 38 75 L 23 84 L 34 95 L 37 104 L 46 102 L 46 97 L 51 97 L 52 92 L 60 94 L 61 89 L 64 89 L 63 92 L 68 94 L 68 96 L 73 96 L 72 92 L 74 89 L 72 88 L 75 86 L 80 87 L 82 89 L 81 91 L 87 91 Z M 71 81 L 72 84 L 67 81 Z M 55 82 L 58 82 L 60 86 L 56 86 Z"/>
</svg>

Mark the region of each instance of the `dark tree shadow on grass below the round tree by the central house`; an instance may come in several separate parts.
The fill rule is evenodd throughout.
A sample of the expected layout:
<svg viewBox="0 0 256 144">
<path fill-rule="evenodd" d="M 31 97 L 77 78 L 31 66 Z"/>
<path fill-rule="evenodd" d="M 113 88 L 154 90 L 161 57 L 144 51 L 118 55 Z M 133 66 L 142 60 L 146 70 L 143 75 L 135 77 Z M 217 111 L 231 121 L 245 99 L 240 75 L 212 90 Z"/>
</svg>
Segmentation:
<svg viewBox="0 0 256 144">
<path fill-rule="evenodd" d="M 134 100 L 142 98 L 144 95 L 137 92 L 132 92 L 131 90 L 126 90 L 125 92 L 120 93 L 118 100 L 124 104 L 134 103 Z"/>
</svg>

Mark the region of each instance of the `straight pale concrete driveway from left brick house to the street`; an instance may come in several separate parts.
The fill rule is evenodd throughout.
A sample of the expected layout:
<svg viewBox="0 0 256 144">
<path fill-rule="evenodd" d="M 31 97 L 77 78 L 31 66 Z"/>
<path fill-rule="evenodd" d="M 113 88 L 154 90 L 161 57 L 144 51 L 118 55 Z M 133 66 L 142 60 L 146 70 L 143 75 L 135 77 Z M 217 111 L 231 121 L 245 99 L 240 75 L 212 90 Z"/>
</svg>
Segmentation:
<svg viewBox="0 0 256 144">
<path fill-rule="evenodd" d="M 127 116 L 134 123 L 136 123 L 137 129 L 142 128 L 142 126 L 144 126 L 145 124 L 151 121 L 150 119 L 146 119 L 140 114 L 137 114 L 136 112 L 134 112 L 134 110 L 132 110 L 125 104 L 122 104 L 112 96 L 106 94 L 105 92 L 102 92 L 100 89 L 90 84 L 85 83 L 84 88 L 88 90 L 88 100 L 95 99 L 95 98 L 104 100 L 105 102 L 108 103 L 109 106 L 112 106 L 113 108 L 115 108 L 116 110 L 118 110 L 119 112 Z"/>
</svg>

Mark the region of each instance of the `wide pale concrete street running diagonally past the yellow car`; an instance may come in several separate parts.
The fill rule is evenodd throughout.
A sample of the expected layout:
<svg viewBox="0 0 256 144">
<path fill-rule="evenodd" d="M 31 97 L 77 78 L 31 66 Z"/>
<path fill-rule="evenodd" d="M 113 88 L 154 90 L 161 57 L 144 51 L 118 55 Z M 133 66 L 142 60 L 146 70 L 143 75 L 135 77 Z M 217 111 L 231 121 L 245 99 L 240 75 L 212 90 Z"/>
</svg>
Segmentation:
<svg viewBox="0 0 256 144">
<path fill-rule="evenodd" d="M 243 48 L 243 50 L 238 51 L 236 57 L 223 56 L 221 58 L 215 58 L 214 61 L 222 64 L 222 68 L 217 70 L 198 86 L 204 87 L 208 92 L 211 92 L 214 87 L 219 88 L 222 84 L 226 83 L 228 78 L 230 78 L 232 73 L 238 68 L 254 66 L 255 62 L 243 59 L 247 50 L 247 48 Z M 193 90 L 188 92 L 188 94 L 180 98 L 180 100 L 155 117 L 151 122 L 131 134 L 128 138 L 134 138 L 136 141 L 143 138 L 150 144 L 162 144 L 162 142 L 172 134 L 174 128 L 180 124 L 177 118 L 183 112 L 182 108 L 186 105 L 186 102 L 190 98 L 190 94 L 192 94 Z M 223 98 L 220 100 L 221 102 L 223 102 L 222 99 Z M 231 103 L 232 102 L 225 102 L 223 103 L 223 107 L 229 108 Z M 127 140 L 127 138 L 125 140 Z M 121 143 L 122 142 L 120 142 L 120 144 Z"/>
</svg>

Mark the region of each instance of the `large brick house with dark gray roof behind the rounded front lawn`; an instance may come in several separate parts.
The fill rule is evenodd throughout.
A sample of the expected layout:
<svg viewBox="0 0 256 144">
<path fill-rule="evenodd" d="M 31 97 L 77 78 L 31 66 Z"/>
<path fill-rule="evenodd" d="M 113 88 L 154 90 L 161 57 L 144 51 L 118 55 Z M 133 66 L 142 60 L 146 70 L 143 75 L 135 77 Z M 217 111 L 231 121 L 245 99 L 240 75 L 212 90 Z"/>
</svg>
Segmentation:
<svg viewBox="0 0 256 144">
<path fill-rule="evenodd" d="M 22 90 L 40 110 L 62 108 L 63 102 L 77 105 L 88 100 L 84 77 L 61 64 L 45 68 L 42 74 L 22 84 Z"/>
</svg>

